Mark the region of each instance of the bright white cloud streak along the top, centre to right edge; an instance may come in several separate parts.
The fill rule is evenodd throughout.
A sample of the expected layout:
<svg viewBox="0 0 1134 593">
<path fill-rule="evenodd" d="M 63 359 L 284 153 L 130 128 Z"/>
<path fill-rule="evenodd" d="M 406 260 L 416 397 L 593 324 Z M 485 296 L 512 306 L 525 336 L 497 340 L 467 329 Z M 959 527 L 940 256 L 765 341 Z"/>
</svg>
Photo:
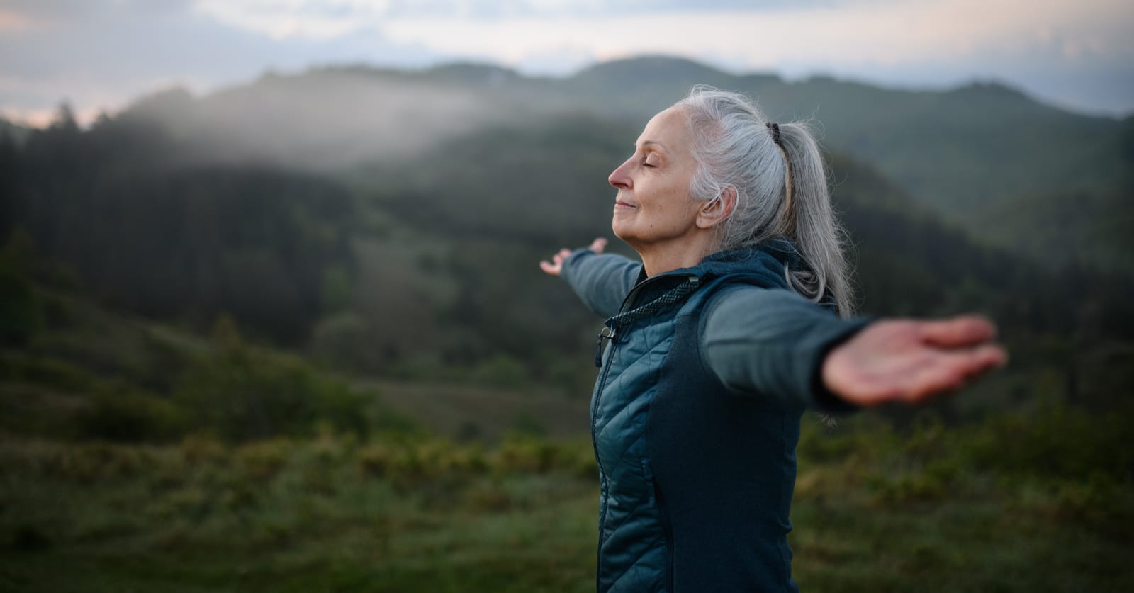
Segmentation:
<svg viewBox="0 0 1134 593">
<path fill-rule="evenodd" d="M 1092 15 L 1080 6 L 983 0 L 866 2 L 839 7 L 602 17 L 526 16 L 491 22 L 457 17 L 406 17 L 383 25 L 396 41 L 417 41 L 443 52 L 473 51 L 515 61 L 552 46 L 584 46 L 599 56 L 650 52 L 745 54 L 754 66 L 780 61 L 897 63 L 932 58 L 972 58 L 1008 51 L 1039 28 L 1058 27 L 1065 39 L 1105 48 L 1100 27 L 1111 28 L 1110 50 L 1132 54 L 1114 16 L 1129 23 L 1125 2 L 1095 0 L 1109 10 Z M 981 18 L 971 15 L 980 14 Z M 1119 22 L 1122 19 L 1118 19 Z M 1095 37 L 1088 41 L 1088 37 Z M 1024 44 L 1024 50 L 1031 46 Z"/>
</svg>

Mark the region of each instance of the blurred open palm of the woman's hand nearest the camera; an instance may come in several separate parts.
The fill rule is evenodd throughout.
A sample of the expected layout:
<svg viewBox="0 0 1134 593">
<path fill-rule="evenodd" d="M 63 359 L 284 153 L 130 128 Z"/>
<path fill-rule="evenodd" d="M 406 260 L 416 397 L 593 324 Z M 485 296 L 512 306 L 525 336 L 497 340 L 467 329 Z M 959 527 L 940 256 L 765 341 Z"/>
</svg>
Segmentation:
<svg viewBox="0 0 1134 593">
<path fill-rule="evenodd" d="M 995 337 L 976 315 L 878 321 L 827 355 L 823 386 L 858 406 L 923 401 L 1004 366 L 1008 355 Z"/>
</svg>

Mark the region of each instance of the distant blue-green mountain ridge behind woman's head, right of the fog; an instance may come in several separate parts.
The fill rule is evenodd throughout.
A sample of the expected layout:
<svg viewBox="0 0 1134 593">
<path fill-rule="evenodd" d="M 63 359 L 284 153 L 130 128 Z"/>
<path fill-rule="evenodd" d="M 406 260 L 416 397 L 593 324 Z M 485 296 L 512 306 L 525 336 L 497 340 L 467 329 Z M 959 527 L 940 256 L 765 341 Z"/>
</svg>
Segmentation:
<svg viewBox="0 0 1134 593">
<path fill-rule="evenodd" d="M 1052 187 L 1111 187 L 1126 170 L 1118 121 L 1043 105 L 996 83 L 938 92 L 823 76 L 786 82 L 665 58 L 599 65 L 562 81 L 564 94 L 576 92 L 590 109 L 642 121 L 699 83 L 748 93 L 772 120 L 816 121 L 828 149 L 873 163 L 916 200 L 963 222 L 989 201 Z"/>
</svg>

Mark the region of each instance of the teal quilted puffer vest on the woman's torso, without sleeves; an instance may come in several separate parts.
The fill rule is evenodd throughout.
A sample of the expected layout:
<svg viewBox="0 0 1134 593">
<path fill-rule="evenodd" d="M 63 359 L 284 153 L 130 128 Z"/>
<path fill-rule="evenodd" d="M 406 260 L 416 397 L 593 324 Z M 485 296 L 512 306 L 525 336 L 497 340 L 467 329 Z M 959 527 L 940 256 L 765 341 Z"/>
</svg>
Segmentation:
<svg viewBox="0 0 1134 593">
<path fill-rule="evenodd" d="M 600 592 L 796 591 L 787 533 L 803 406 L 729 391 L 701 347 L 710 299 L 786 288 L 778 255 L 718 254 L 644 279 L 607 320 L 591 401 Z"/>
</svg>

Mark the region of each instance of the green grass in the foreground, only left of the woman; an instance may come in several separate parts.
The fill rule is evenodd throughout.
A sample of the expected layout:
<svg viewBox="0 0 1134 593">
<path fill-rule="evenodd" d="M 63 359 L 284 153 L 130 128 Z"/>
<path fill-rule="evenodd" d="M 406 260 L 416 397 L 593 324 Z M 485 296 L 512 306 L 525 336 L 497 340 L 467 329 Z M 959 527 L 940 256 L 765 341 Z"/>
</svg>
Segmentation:
<svg viewBox="0 0 1134 593">
<path fill-rule="evenodd" d="M 0 587 L 585 591 L 598 498 L 575 447 L 558 447 L 564 465 L 542 473 L 492 451 L 484 466 L 375 475 L 364 447 L 331 438 L 9 442 Z"/>
</svg>

